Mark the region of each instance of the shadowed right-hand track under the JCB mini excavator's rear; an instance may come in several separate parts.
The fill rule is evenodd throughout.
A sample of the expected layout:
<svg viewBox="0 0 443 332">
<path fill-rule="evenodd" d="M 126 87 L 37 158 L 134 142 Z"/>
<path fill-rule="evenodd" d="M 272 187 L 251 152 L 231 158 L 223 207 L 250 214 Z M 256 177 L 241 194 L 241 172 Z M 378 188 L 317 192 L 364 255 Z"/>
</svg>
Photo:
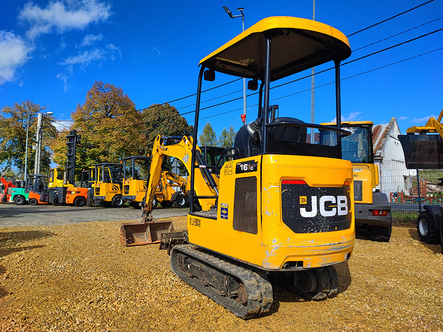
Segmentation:
<svg viewBox="0 0 443 332">
<path fill-rule="evenodd" d="M 269 280 L 309 300 L 322 300 L 337 294 L 339 280 L 333 266 L 269 275 Z"/>
</svg>

